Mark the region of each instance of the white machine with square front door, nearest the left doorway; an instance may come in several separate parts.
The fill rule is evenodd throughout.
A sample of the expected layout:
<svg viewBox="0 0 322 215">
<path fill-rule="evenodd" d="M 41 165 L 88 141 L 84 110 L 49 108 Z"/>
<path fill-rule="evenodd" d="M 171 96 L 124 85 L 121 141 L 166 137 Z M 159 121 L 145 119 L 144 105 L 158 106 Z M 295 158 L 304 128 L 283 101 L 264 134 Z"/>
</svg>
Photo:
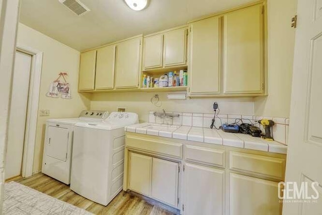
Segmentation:
<svg viewBox="0 0 322 215">
<path fill-rule="evenodd" d="M 69 184 L 74 125 L 102 122 L 107 116 L 106 111 L 84 110 L 78 118 L 48 119 L 41 172 Z"/>
</svg>

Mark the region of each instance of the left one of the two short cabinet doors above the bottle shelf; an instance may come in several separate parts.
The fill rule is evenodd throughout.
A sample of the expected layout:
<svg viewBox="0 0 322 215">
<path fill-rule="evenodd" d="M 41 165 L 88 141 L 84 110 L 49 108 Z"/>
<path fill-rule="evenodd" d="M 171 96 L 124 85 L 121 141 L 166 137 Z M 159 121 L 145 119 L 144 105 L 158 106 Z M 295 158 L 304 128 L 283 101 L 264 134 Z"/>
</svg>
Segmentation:
<svg viewBox="0 0 322 215">
<path fill-rule="evenodd" d="M 143 52 L 144 69 L 162 67 L 163 35 L 145 37 Z"/>
</svg>

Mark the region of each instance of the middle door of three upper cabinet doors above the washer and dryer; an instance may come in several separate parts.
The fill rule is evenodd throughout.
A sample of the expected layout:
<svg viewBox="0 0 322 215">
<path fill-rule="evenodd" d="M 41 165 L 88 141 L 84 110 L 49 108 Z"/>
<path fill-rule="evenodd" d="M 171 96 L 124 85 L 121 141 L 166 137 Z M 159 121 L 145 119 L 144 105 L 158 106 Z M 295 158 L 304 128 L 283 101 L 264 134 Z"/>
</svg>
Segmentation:
<svg viewBox="0 0 322 215">
<path fill-rule="evenodd" d="M 95 89 L 113 89 L 115 69 L 115 45 L 97 50 Z"/>
</svg>

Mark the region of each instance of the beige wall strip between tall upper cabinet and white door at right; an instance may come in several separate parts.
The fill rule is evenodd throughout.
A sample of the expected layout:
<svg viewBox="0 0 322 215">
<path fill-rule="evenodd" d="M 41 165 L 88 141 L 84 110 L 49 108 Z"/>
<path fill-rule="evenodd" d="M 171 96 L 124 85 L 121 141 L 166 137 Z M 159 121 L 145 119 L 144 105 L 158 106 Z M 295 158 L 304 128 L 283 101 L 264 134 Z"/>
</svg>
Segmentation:
<svg viewBox="0 0 322 215">
<path fill-rule="evenodd" d="M 255 114 L 289 117 L 297 0 L 268 0 L 268 96 L 255 98 Z"/>
</svg>

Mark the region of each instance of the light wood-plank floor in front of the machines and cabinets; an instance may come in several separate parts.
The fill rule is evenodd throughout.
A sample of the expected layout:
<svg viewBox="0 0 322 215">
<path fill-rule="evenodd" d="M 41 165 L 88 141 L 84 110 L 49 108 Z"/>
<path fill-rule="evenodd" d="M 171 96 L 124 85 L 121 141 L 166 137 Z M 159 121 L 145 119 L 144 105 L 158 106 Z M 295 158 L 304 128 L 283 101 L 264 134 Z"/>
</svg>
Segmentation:
<svg viewBox="0 0 322 215">
<path fill-rule="evenodd" d="M 95 214 L 174 214 L 124 191 L 121 191 L 107 206 L 103 206 L 76 194 L 68 185 L 42 173 L 28 178 L 17 178 L 14 181 Z"/>
</svg>

